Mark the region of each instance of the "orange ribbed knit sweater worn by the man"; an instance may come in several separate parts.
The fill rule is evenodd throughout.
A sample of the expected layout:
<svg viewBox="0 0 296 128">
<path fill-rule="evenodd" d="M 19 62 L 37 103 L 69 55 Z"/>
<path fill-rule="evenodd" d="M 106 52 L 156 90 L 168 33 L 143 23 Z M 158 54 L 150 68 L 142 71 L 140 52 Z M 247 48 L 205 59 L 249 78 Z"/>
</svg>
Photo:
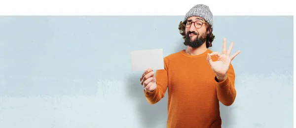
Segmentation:
<svg viewBox="0 0 296 128">
<path fill-rule="evenodd" d="M 226 106 L 233 103 L 235 74 L 230 64 L 227 79 L 217 82 L 207 53 L 212 51 L 191 56 L 182 50 L 165 57 L 165 69 L 155 74 L 157 88 L 144 90 L 150 104 L 157 103 L 168 90 L 167 128 L 221 128 L 219 101 Z M 212 56 L 212 60 L 217 61 L 217 57 Z"/>
</svg>

